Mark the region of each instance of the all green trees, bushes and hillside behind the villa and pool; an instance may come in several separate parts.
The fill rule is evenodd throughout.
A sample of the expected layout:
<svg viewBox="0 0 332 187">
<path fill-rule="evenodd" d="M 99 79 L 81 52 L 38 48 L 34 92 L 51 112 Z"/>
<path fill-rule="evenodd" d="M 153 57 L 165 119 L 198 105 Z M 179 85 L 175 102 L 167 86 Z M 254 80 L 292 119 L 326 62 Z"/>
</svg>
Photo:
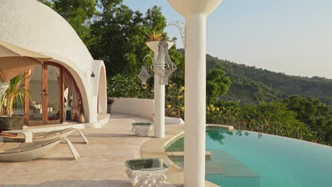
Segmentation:
<svg viewBox="0 0 332 187">
<path fill-rule="evenodd" d="M 133 11 L 122 0 L 40 0 L 77 31 L 94 59 L 104 60 L 110 97 L 153 98 L 153 79 L 137 74 L 153 55 L 145 42 L 167 25 L 161 8 Z M 164 33 L 167 37 L 167 33 Z M 177 38 L 170 39 L 176 41 Z M 167 115 L 184 118 L 184 50 L 170 48 L 177 71 L 166 86 Z M 294 77 L 206 55 L 206 123 L 332 145 L 332 80 Z"/>
</svg>

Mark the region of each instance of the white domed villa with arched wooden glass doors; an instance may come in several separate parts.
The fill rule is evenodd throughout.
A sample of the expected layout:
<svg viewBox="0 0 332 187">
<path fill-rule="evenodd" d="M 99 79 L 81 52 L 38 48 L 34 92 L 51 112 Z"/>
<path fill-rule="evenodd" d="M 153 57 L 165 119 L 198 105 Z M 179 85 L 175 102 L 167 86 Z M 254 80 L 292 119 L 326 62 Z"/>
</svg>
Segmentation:
<svg viewBox="0 0 332 187">
<path fill-rule="evenodd" d="M 94 60 L 64 18 L 34 0 L 0 1 L 0 40 L 52 57 L 30 71 L 24 110 L 26 125 L 75 123 L 84 114 L 86 123 L 99 124 L 106 113 L 104 62 Z M 108 121 L 109 116 L 107 116 Z"/>
</svg>

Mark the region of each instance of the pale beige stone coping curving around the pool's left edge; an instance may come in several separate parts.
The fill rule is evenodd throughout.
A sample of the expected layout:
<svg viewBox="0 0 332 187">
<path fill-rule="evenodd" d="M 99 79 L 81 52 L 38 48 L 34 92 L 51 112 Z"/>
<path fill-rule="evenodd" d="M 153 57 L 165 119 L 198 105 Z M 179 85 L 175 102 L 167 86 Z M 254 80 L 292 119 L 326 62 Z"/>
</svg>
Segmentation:
<svg viewBox="0 0 332 187">
<path fill-rule="evenodd" d="M 175 186 L 184 186 L 184 171 L 177 166 L 172 160 L 167 156 L 165 152 L 165 147 L 168 147 L 172 142 L 175 142 L 179 137 L 184 135 L 184 125 L 172 125 L 173 128 L 170 131 L 167 131 L 167 134 L 163 138 L 152 138 L 143 143 L 140 147 L 140 157 L 142 159 L 148 158 L 159 158 L 164 159 L 167 162 L 170 162 L 170 168 L 167 171 L 167 181 L 172 183 Z M 215 125 L 208 124 L 206 127 L 216 127 L 223 128 L 227 130 L 233 130 L 233 126 L 228 125 Z M 206 187 L 218 187 L 218 185 L 205 181 Z"/>
</svg>

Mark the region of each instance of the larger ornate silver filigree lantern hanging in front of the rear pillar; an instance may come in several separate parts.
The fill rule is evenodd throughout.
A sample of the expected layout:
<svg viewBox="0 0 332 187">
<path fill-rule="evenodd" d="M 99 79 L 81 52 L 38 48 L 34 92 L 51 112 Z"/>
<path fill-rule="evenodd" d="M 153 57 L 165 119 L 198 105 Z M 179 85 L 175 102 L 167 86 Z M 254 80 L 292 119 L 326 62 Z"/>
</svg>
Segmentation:
<svg viewBox="0 0 332 187">
<path fill-rule="evenodd" d="M 159 83 L 162 85 L 168 84 L 168 78 L 175 72 L 177 66 L 170 59 L 168 55 L 168 44 L 165 40 L 159 42 L 159 54 L 157 59 L 153 62 L 153 72 L 159 77 Z"/>
</svg>

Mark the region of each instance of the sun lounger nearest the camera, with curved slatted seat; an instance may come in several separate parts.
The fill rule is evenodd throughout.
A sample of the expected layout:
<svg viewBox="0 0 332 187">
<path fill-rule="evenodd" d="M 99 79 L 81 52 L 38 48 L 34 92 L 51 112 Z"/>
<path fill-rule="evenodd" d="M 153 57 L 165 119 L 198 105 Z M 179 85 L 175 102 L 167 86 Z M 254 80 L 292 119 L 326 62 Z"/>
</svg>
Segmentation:
<svg viewBox="0 0 332 187">
<path fill-rule="evenodd" d="M 38 159 L 62 141 L 67 142 L 74 159 L 78 159 L 80 155 L 70 140 L 67 138 L 57 138 L 31 143 L 0 142 L 0 162 L 26 162 Z"/>
</svg>

